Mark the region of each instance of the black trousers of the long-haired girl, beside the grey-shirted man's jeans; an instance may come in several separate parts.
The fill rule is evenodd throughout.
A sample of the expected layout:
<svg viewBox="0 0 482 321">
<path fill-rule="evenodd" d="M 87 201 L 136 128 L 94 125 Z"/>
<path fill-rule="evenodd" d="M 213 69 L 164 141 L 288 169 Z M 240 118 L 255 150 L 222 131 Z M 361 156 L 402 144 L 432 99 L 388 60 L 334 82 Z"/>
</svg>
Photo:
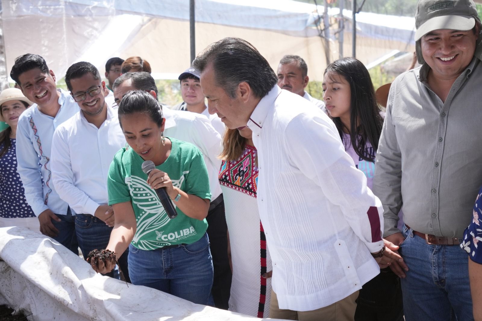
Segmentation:
<svg viewBox="0 0 482 321">
<path fill-rule="evenodd" d="M 355 321 L 403 321 L 400 278 L 387 268 L 360 290 Z"/>
</svg>

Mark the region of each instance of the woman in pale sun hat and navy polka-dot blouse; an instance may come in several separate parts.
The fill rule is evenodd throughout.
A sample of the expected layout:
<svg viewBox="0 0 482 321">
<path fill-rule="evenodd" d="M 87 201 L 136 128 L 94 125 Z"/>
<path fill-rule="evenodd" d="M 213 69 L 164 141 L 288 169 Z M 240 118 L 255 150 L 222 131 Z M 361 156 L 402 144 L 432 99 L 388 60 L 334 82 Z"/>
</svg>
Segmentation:
<svg viewBox="0 0 482 321">
<path fill-rule="evenodd" d="M 30 105 L 20 89 L 0 93 L 0 121 L 10 126 L 0 133 L 0 227 L 27 227 L 39 232 L 39 220 L 25 200 L 15 155 L 18 117 Z"/>
</svg>

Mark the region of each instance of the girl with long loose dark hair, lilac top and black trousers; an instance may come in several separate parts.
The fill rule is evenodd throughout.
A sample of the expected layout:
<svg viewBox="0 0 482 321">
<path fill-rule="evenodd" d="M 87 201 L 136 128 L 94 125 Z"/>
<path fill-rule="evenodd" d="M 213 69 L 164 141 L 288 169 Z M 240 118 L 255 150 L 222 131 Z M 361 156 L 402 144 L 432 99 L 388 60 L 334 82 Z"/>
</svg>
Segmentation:
<svg viewBox="0 0 482 321">
<path fill-rule="evenodd" d="M 358 59 L 345 57 L 326 67 L 323 100 L 345 150 L 372 188 L 375 153 L 383 125 L 370 74 Z M 403 320 L 400 278 L 389 267 L 360 290 L 356 321 Z"/>
</svg>

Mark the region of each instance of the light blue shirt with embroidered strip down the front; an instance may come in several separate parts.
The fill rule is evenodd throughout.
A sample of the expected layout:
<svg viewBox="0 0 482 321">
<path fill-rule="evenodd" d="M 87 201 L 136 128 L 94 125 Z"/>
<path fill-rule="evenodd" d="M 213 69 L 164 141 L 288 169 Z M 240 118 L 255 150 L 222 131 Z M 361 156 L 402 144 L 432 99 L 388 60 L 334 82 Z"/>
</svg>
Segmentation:
<svg viewBox="0 0 482 321">
<path fill-rule="evenodd" d="M 68 92 L 62 89 L 57 91 L 60 92 L 60 109 L 55 117 L 43 114 L 37 104 L 33 104 L 18 118 L 17 170 L 25 188 L 27 203 L 37 216 L 48 209 L 55 214 L 65 215 L 68 208 L 57 194 L 51 179 L 52 137 L 60 124 L 79 111 L 79 105 Z"/>
</svg>

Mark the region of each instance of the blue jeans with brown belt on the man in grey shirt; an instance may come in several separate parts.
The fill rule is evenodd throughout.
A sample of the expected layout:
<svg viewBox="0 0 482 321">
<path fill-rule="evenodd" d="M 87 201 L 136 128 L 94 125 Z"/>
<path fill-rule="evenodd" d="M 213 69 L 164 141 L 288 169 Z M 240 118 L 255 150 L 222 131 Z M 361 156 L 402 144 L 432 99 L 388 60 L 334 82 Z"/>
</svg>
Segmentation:
<svg viewBox="0 0 482 321">
<path fill-rule="evenodd" d="M 467 253 L 458 245 L 430 245 L 402 227 L 409 271 L 402 279 L 406 321 L 473 321 Z M 455 314 L 455 318 L 452 315 Z"/>
</svg>

